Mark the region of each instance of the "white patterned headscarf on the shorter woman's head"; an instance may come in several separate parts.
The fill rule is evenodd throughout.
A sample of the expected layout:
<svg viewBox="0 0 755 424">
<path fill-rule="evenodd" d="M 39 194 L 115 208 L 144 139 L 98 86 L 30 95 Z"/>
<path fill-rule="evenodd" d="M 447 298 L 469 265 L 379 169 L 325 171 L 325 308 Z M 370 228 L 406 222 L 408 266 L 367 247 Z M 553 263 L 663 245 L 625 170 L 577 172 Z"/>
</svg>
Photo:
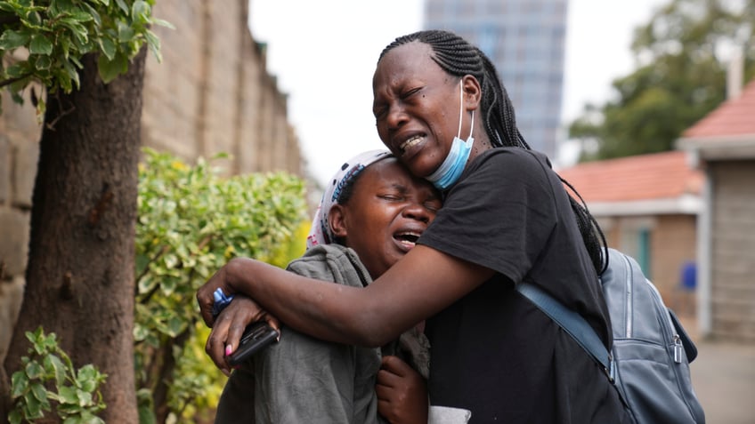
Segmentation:
<svg viewBox="0 0 755 424">
<path fill-rule="evenodd" d="M 330 208 L 338 203 L 338 197 L 341 196 L 341 191 L 349 181 L 353 180 L 370 164 L 390 156 L 392 155 L 388 150 L 369 150 L 353 156 L 341 165 L 341 169 L 329 180 L 328 187 L 325 188 L 320 205 L 317 207 L 317 212 L 314 212 L 312 229 L 307 236 L 307 249 L 318 244 L 331 244 L 335 241 L 336 236 L 333 235 L 333 230 L 328 223 Z"/>
</svg>

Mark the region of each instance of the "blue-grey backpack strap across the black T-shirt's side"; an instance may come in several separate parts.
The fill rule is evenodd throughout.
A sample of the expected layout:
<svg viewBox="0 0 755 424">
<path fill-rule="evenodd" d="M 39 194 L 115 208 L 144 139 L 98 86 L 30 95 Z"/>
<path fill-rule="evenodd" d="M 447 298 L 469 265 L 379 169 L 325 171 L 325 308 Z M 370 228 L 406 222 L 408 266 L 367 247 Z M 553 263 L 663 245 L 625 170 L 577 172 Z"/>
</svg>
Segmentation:
<svg viewBox="0 0 755 424">
<path fill-rule="evenodd" d="M 516 284 L 516 291 L 522 293 L 525 298 L 532 301 L 547 316 L 556 322 L 565 332 L 603 367 L 605 375 L 613 382 L 613 358 L 603 341 L 597 337 L 597 333 L 589 326 L 584 318 L 544 292 L 539 287 L 529 283 Z"/>
</svg>

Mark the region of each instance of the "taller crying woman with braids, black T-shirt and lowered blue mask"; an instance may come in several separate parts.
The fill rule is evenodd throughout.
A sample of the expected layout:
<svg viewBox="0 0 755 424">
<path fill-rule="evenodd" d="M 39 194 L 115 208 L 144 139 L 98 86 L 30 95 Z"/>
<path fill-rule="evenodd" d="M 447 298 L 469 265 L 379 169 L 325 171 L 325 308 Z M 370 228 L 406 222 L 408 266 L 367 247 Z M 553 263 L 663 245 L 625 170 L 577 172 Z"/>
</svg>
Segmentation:
<svg viewBox="0 0 755 424">
<path fill-rule="evenodd" d="M 218 287 L 342 343 L 380 346 L 426 319 L 431 422 L 629 422 L 603 371 L 515 290 L 537 285 L 613 342 L 602 234 L 524 141 L 491 61 L 451 32 L 420 31 L 380 54 L 372 88 L 380 139 L 444 195 L 417 246 L 363 289 L 231 260 L 197 293 L 206 323 Z"/>
</svg>

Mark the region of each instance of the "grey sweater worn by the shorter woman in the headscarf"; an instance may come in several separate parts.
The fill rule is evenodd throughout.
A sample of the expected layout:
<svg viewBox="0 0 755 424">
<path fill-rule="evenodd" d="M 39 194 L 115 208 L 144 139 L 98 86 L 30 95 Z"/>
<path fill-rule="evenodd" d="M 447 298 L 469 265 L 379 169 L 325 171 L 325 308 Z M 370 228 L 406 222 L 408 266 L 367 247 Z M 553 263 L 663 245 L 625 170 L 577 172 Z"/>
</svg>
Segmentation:
<svg viewBox="0 0 755 424">
<path fill-rule="evenodd" d="M 372 282 L 356 253 L 338 244 L 313 247 L 288 270 L 356 287 Z M 408 332 L 383 351 L 402 356 L 426 376 L 424 335 Z M 332 343 L 283 328 L 279 343 L 231 373 L 215 423 L 384 423 L 375 395 L 380 361 L 379 348 Z"/>
</svg>

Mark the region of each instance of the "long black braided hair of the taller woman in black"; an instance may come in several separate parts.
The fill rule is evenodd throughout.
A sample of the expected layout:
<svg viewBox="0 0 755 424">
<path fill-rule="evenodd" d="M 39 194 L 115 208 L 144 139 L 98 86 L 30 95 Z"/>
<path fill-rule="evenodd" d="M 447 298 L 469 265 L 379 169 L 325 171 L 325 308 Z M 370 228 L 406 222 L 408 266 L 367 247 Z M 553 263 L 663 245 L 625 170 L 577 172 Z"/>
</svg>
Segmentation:
<svg viewBox="0 0 755 424">
<path fill-rule="evenodd" d="M 506 87 L 501 84 L 495 66 L 480 49 L 470 44 L 464 38 L 456 34 L 439 29 L 418 31 L 407 36 L 400 36 L 393 43 L 388 44 L 380 53 L 378 62 L 383 59 L 387 52 L 402 44 L 418 41 L 430 46 L 433 50 L 432 59 L 444 71 L 451 76 L 474 76 L 482 87 L 483 125 L 491 145 L 494 148 L 515 147 L 531 150 L 524 140 L 524 136 L 516 127 L 514 106 L 508 98 Z M 568 194 L 572 211 L 580 228 L 582 241 L 585 244 L 598 275 L 603 274 L 608 267 L 608 248 L 605 236 L 597 220 L 590 214 L 584 200 L 569 182 L 558 177 L 574 196 Z"/>
</svg>

